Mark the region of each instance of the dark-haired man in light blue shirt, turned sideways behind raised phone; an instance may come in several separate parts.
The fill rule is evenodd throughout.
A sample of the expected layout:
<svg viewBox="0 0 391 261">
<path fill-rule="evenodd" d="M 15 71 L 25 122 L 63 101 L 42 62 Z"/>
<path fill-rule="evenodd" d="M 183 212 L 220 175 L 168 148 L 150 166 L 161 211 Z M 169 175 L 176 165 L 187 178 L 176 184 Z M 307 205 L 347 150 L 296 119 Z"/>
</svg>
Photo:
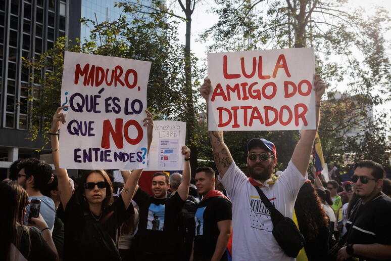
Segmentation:
<svg viewBox="0 0 391 261">
<path fill-rule="evenodd" d="M 39 212 L 52 233 L 56 218 L 55 203 L 51 198 L 41 193 L 52 180 L 52 167 L 45 161 L 36 158 L 23 159 L 18 163 L 17 167 L 20 169 L 17 175 L 18 184 L 27 191 L 29 201 L 32 199 L 41 201 Z M 25 225 L 27 225 L 29 212 L 30 204 L 26 206 Z"/>
</svg>

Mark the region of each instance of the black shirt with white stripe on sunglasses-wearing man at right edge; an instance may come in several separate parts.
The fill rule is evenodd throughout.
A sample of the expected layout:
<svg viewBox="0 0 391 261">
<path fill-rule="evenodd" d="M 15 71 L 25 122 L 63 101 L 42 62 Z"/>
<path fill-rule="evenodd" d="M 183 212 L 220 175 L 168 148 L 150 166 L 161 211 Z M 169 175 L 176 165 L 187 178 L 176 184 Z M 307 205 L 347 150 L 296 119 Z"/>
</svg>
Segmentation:
<svg viewBox="0 0 391 261">
<path fill-rule="evenodd" d="M 391 199 L 386 195 L 362 205 L 352 213 L 346 227 L 347 244 L 391 245 Z M 353 230 L 350 231 L 353 223 Z M 368 259 L 366 260 L 375 260 Z M 391 259 L 389 259 L 391 260 Z"/>
</svg>

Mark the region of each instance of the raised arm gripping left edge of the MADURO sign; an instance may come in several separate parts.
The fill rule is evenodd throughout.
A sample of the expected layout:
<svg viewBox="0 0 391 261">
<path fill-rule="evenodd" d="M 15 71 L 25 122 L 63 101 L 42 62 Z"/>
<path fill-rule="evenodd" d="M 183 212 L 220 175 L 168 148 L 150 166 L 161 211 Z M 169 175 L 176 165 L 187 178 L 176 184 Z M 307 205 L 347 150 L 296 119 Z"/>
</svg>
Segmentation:
<svg viewBox="0 0 391 261">
<path fill-rule="evenodd" d="M 69 185 L 69 177 L 66 168 L 60 168 L 60 143 L 58 139 L 58 130 L 60 129 L 60 123 L 64 124 L 65 115 L 61 112 L 64 108 L 68 106 L 59 107 L 56 113 L 53 115 L 52 127 L 50 130 L 51 133 L 51 142 L 52 142 L 52 156 L 53 162 L 56 168 L 57 179 L 59 183 L 59 191 L 61 203 L 63 204 L 63 208 L 67 206 L 69 200 L 72 197 L 71 186 Z M 65 130 L 64 130 L 65 131 Z"/>
</svg>

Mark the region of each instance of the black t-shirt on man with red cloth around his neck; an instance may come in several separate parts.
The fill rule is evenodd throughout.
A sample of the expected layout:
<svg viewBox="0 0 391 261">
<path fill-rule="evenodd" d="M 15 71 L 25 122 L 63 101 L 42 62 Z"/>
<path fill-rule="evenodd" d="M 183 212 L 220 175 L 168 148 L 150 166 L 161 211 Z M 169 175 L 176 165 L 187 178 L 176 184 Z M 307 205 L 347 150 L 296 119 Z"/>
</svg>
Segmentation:
<svg viewBox="0 0 391 261">
<path fill-rule="evenodd" d="M 228 199 L 211 197 L 198 204 L 194 216 L 194 259 L 208 259 L 213 256 L 220 234 L 217 222 L 223 220 L 232 220 L 232 203 Z"/>
</svg>

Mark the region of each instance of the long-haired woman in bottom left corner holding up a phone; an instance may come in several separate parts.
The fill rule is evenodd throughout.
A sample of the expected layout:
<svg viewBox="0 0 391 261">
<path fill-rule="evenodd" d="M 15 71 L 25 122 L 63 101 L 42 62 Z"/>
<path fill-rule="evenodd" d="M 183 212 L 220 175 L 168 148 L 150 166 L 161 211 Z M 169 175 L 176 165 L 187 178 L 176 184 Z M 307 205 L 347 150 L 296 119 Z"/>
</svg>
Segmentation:
<svg viewBox="0 0 391 261">
<path fill-rule="evenodd" d="M 31 218 L 36 229 L 23 225 L 27 192 L 15 181 L 2 181 L 0 198 L 0 260 L 57 260 L 52 235 L 42 216 Z"/>
</svg>

